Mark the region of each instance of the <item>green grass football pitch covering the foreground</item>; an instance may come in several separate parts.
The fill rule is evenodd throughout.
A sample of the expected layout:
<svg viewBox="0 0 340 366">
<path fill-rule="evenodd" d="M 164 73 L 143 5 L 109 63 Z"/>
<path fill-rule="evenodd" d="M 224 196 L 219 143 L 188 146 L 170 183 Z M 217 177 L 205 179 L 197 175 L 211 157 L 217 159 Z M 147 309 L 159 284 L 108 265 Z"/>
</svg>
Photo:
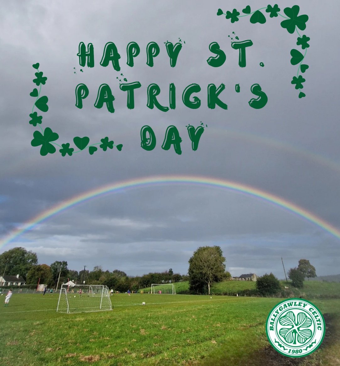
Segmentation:
<svg viewBox="0 0 340 366">
<path fill-rule="evenodd" d="M 56 312 L 58 297 L 14 294 L 8 307 L 1 302 L 0 365 L 263 366 L 266 318 L 282 300 L 114 294 L 111 311 L 64 314 Z M 340 300 L 315 305 L 339 325 Z M 339 362 L 339 331 L 330 337 L 311 355 L 322 365 Z"/>
</svg>

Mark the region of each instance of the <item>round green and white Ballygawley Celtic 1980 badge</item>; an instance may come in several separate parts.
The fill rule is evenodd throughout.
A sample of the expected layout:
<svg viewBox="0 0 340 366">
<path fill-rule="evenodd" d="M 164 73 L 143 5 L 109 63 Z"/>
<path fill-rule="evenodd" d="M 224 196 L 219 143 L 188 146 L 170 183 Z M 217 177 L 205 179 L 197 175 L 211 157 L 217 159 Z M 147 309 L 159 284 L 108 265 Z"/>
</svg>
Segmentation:
<svg viewBox="0 0 340 366">
<path fill-rule="evenodd" d="M 266 321 L 267 338 L 273 348 L 288 357 L 303 357 L 320 346 L 325 337 L 325 320 L 320 310 L 304 299 L 281 301 Z"/>
</svg>

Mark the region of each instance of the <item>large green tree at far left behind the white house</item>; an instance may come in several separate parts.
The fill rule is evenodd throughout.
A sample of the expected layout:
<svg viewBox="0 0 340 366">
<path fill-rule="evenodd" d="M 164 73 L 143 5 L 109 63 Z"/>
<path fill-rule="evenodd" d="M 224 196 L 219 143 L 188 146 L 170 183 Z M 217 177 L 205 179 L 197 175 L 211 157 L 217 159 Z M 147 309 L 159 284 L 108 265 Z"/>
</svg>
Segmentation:
<svg viewBox="0 0 340 366">
<path fill-rule="evenodd" d="M 20 275 L 26 279 L 30 268 L 38 264 L 37 253 L 23 247 L 15 247 L 0 254 L 0 276 Z"/>
</svg>

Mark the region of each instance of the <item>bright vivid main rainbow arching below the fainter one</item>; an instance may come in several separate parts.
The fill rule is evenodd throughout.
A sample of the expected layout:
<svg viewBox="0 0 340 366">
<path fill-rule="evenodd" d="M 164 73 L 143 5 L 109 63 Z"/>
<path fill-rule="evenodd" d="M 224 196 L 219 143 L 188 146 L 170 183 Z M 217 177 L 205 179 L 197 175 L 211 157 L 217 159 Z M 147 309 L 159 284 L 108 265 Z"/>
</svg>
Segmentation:
<svg viewBox="0 0 340 366">
<path fill-rule="evenodd" d="M 169 185 L 169 184 L 189 184 L 189 185 L 199 185 L 203 187 L 217 187 L 217 188 L 227 188 L 228 190 L 239 192 L 243 194 L 250 195 L 254 198 L 262 199 L 265 202 L 274 204 L 280 208 L 287 210 L 288 212 L 294 213 L 297 216 L 317 225 L 326 232 L 332 234 L 337 239 L 340 239 L 340 230 L 334 226 L 322 220 L 320 217 L 314 215 L 313 213 L 286 201 L 276 195 L 270 194 L 265 191 L 261 191 L 257 188 L 246 186 L 241 183 L 232 182 L 230 180 L 204 177 L 204 176 L 187 176 L 187 175 L 159 175 L 150 176 L 145 178 L 135 178 L 130 180 L 124 180 L 122 182 L 117 182 L 113 184 L 107 184 L 105 186 L 95 188 L 93 190 L 87 191 L 80 195 L 74 196 L 67 201 L 63 201 L 52 208 L 40 213 L 38 216 L 33 217 L 33 219 L 27 221 L 21 227 L 16 228 L 8 235 L 6 235 L 0 241 L 0 248 L 12 242 L 19 235 L 29 231 L 36 225 L 42 223 L 43 221 L 49 219 L 50 217 L 56 215 L 57 213 L 63 212 L 79 203 L 86 202 L 90 199 L 100 197 L 105 194 L 117 193 L 122 190 L 130 188 L 142 188 L 149 186 L 159 186 L 159 185 Z"/>
</svg>

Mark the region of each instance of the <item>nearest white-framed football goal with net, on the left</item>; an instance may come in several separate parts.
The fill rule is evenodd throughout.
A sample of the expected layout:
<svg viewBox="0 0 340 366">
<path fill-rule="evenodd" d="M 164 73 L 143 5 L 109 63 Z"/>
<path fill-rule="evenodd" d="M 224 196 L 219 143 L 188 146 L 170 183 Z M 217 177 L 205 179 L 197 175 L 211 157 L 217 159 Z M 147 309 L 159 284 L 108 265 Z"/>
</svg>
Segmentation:
<svg viewBox="0 0 340 366">
<path fill-rule="evenodd" d="M 107 286 L 61 285 L 57 312 L 70 314 L 105 310 L 112 310 Z"/>
</svg>

